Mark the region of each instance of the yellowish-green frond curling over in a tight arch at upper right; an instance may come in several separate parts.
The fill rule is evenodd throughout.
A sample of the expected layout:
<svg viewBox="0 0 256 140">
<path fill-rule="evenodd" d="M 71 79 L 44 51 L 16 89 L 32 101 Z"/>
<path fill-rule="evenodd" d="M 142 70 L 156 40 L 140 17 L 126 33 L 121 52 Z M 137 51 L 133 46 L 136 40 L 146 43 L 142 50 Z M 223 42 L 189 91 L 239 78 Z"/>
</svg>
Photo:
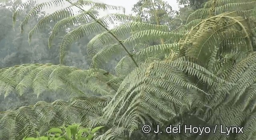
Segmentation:
<svg viewBox="0 0 256 140">
<path fill-rule="evenodd" d="M 238 52 L 252 51 L 250 39 L 252 34 L 247 28 L 247 20 L 235 12 L 203 20 L 188 32 L 186 38 L 180 40 L 183 43 L 180 55 L 195 58 L 198 64 L 204 65 L 211 59 L 212 53 L 216 53 L 214 46 L 222 47 L 218 55 L 224 55 L 224 50 L 228 49 L 228 52 L 231 49 L 236 49 Z M 228 46 L 231 45 L 232 47 L 229 48 Z"/>
</svg>

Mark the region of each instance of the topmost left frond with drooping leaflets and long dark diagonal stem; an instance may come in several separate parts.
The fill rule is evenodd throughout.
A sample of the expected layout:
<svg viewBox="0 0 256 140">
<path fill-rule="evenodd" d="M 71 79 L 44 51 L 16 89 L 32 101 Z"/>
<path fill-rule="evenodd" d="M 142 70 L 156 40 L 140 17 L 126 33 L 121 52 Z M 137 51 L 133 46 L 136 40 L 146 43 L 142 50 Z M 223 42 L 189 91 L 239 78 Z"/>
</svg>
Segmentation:
<svg viewBox="0 0 256 140">
<path fill-rule="evenodd" d="M 23 7 L 31 6 L 31 5 L 35 4 L 36 2 L 37 2 L 36 0 L 32 0 L 30 2 L 22 4 L 22 6 L 21 6 L 22 8 L 18 8 L 13 14 L 14 21 L 16 20 L 16 16 L 18 16 L 18 14 L 20 14 L 20 12 L 22 10 L 24 10 Z M 87 32 L 88 34 L 90 34 L 90 32 L 97 31 L 94 28 L 108 30 L 108 28 L 106 28 L 106 24 L 104 24 L 105 23 L 104 21 L 106 21 L 106 18 L 97 19 L 98 18 L 98 11 L 96 9 L 102 9 L 102 10 L 116 9 L 116 10 L 118 10 L 118 9 L 122 8 L 122 7 L 119 7 L 119 6 L 109 6 L 109 5 L 103 4 L 103 3 L 95 3 L 95 2 L 91 2 L 91 1 L 81 1 L 81 0 L 73 0 L 73 1 L 53 0 L 53 1 L 50 1 L 50 2 L 44 2 L 44 3 L 41 3 L 41 4 L 37 4 L 34 8 L 32 8 L 32 10 L 30 10 L 29 14 L 26 16 L 26 18 L 24 19 L 24 21 L 22 22 L 22 24 L 20 26 L 21 31 L 23 30 L 23 27 L 33 18 L 34 14 L 38 14 L 41 10 L 43 10 L 47 6 L 50 6 L 50 7 L 51 6 L 56 6 L 56 7 L 58 7 L 62 4 L 64 4 L 65 2 L 70 3 L 72 6 L 68 7 L 68 8 L 64 8 L 64 9 L 58 11 L 58 12 L 54 12 L 53 14 L 43 18 L 29 34 L 29 39 L 31 39 L 32 34 L 34 34 L 36 31 L 38 31 L 38 29 L 40 27 L 43 27 L 43 26 L 45 26 L 45 24 L 49 23 L 49 21 L 50 21 L 49 19 L 51 19 L 51 20 L 54 19 L 55 21 L 56 20 L 58 21 L 58 20 L 64 18 L 66 20 L 66 23 L 62 24 L 62 26 L 64 26 L 65 24 L 68 24 L 68 22 L 67 22 L 68 18 L 70 19 L 70 16 L 73 16 L 75 14 L 73 12 L 74 7 L 78 8 L 79 11 L 83 12 L 82 14 L 80 14 L 80 16 L 87 15 L 87 16 L 90 17 L 91 20 L 94 20 L 94 23 L 91 23 L 91 24 L 88 24 L 88 25 L 87 24 L 81 25 L 81 26 L 78 27 L 78 29 L 72 31 L 71 33 L 67 34 L 64 37 L 64 39 L 62 40 L 62 44 L 60 46 L 60 50 L 61 50 L 60 51 L 60 62 L 63 62 L 64 56 L 66 54 L 66 50 L 68 50 L 68 49 L 66 49 L 67 46 L 70 46 L 70 44 L 72 42 L 74 42 L 78 38 L 82 38 L 84 36 L 84 34 L 80 34 L 81 30 L 89 31 L 89 32 Z M 72 2 L 74 2 L 74 3 L 72 3 Z M 83 6 L 91 6 L 92 8 L 89 9 L 87 12 L 85 12 Z M 59 16 L 60 14 L 62 16 Z M 111 18 L 111 17 L 113 17 L 113 16 L 109 16 L 109 18 Z M 79 18 L 79 16 L 77 18 Z M 122 15 L 121 16 L 119 15 L 119 16 L 114 16 L 114 18 L 111 18 L 110 20 L 123 20 L 124 18 L 126 18 L 126 17 L 122 16 Z M 126 19 L 129 20 L 130 16 L 128 16 Z M 56 23 L 56 25 L 60 24 L 62 22 L 63 22 L 63 20 L 60 20 L 59 22 Z M 84 22 L 84 20 L 82 22 Z M 92 25 L 92 26 L 89 26 L 89 25 Z M 89 26 L 89 28 L 88 28 L 88 26 Z M 92 30 L 92 29 L 94 29 L 94 30 Z M 112 34 L 111 32 L 110 32 L 110 34 L 112 36 L 114 36 L 117 41 L 119 41 L 118 38 L 114 34 Z M 50 45 L 50 39 L 52 39 L 53 37 L 54 37 L 54 35 L 50 36 L 49 45 Z M 123 48 L 126 50 L 125 46 L 123 46 Z M 128 50 L 126 50 L 126 52 L 128 54 L 130 54 L 128 52 Z"/>
</svg>

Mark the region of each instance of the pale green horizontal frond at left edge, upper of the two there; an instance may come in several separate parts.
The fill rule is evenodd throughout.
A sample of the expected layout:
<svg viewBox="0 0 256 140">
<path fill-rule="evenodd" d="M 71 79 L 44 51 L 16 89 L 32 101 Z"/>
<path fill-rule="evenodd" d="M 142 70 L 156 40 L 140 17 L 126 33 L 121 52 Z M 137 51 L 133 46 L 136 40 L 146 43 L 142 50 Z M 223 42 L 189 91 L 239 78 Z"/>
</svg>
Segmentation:
<svg viewBox="0 0 256 140">
<path fill-rule="evenodd" d="M 47 89 L 56 91 L 66 88 L 68 89 L 67 92 L 69 91 L 71 93 L 70 96 L 74 97 L 79 94 L 84 94 L 75 85 L 77 83 L 83 83 L 88 74 L 89 82 L 91 82 L 90 80 L 93 80 L 95 76 L 99 76 L 99 74 L 102 75 L 100 77 L 101 80 L 104 80 L 105 78 L 105 80 L 108 81 L 114 78 L 111 74 L 103 75 L 106 73 L 104 70 L 79 70 L 74 67 L 53 64 L 24 64 L 1 69 L 0 73 L 0 93 L 4 93 L 4 97 L 12 92 L 17 92 L 22 95 L 29 88 L 32 88 L 34 93 L 38 96 Z M 99 86 L 96 83 L 94 83 L 94 85 Z M 88 88 L 89 90 L 93 89 L 90 89 L 90 86 Z M 100 89 L 103 90 L 104 88 L 101 87 Z M 94 89 L 93 91 L 96 90 Z"/>
</svg>

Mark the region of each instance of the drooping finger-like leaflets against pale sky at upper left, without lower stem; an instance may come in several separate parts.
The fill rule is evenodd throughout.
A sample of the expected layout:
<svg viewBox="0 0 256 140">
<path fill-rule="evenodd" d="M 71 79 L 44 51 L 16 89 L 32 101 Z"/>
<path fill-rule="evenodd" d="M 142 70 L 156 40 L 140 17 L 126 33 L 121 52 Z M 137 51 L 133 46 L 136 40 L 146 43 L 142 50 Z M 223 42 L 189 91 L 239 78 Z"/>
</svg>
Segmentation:
<svg viewBox="0 0 256 140">
<path fill-rule="evenodd" d="M 28 15 L 26 16 L 26 18 L 24 19 L 24 21 L 22 22 L 20 28 L 21 28 L 21 31 L 23 30 L 23 27 L 26 26 L 26 24 L 34 17 L 34 15 L 40 13 L 42 10 L 44 10 L 45 8 L 47 7 L 52 7 L 53 5 L 58 7 L 64 3 L 70 3 L 71 6 L 68 6 L 67 8 L 64 8 L 64 9 L 61 9 L 61 10 L 58 10 L 57 12 L 54 12 L 53 14 L 50 14 L 46 17 L 44 17 L 42 20 L 40 20 L 40 22 L 38 22 L 38 24 L 36 24 L 36 26 L 30 31 L 29 33 L 29 41 L 31 41 L 31 38 L 32 38 L 32 34 L 34 34 L 36 31 L 38 31 L 40 28 L 42 28 L 43 26 L 45 26 L 46 24 L 48 24 L 51 20 L 55 20 L 55 21 L 58 21 L 60 20 L 59 22 L 57 22 L 57 24 L 60 24 L 63 20 L 61 19 L 69 19 L 74 17 L 74 14 L 75 12 L 73 11 L 74 9 L 78 9 L 76 11 L 82 11 L 82 15 L 83 16 L 88 16 L 90 17 L 92 20 L 96 20 L 95 22 L 98 23 L 99 25 L 98 26 L 101 26 L 103 29 L 105 30 L 108 30 L 104 24 L 104 19 L 103 20 L 97 20 L 98 18 L 98 11 L 99 9 L 103 9 L 103 10 L 111 10 L 111 9 L 115 9 L 115 10 L 121 10 L 122 7 L 120 6 L 110 6 L 110 5 L 107 5 L 107 4 L 103 4 L 103 3 L 97 3 L 97 2 L 91 2 L 91 1 L 81 1 L 81 0 L 73 0 L 73 1 L 66 1 L 66 0 L 51 0 L 49 2 L 43 2 L 43 3 L 40 3 L 40 4 L 37 4 L 34 8 L 32 8 L 30 10 L 30 12 L 28 13 Z M 37 1 L 33 1 L 33 2 L 28 2 L 28 3 L 24 3 L 25 6 L 31 6 L 33 4 L 36 4 Z M 87 12 L 85 12 L 84 10 L 84 6 L 91 6 L 91 10 L 88 10 Z M 96 10 L 97 9 L 97 10 Z M 123 9 L 124 10 L 124 9 Z M 21 12 L 21 11 L 24 11 L 23 8 L 20 8 L 18 9 L 17 11 L 14 12 L 13 14 L 13 20 L 16 20 L 16 17 L 18 16 L 18 14 Z M 59 16 L 59 15 L 62 15 L 62 16 Z M 81 14 L 80 14 L 81 15 Z M 111 16 L 109 16 L 111 18 Z M 115 20 L 115 19 L 124 19 L 124 16 L 119 16 L 119 18 L 117 18 L 118 16 L 116 16 L 115 18 L 113 18 L 112 16 L 112 19 L 111 20 Z M 78 16 L 79 18 L 79 16 Z M 74 19 L 74 18 L 72 18 Z M 129 18 L 128 18 L 129 19 Z M 82 20 L 84 21 L 84 20 Z M 70 34 L 67 34 L 63 41 L 62 41 L 62 45 L 60 46 L 60 50 L 62 50 L 60 53 L 61 53 L 61 57 L 60 57 L 60 62 L 63 61 L 64 59 L 64 56 L 66 54 L 66 50 L 65 48 L 69 47 L 67 45 L 70 45 L 72 43 L 72 40 L 77 40 L 78 38 L 82 38 L 83 35 L 80 34 L 81 30 L 84 30 L 84 27 L 87 26 L 86 24 L 85 25 L 81 25 L 78 29 L 76 29 L 75 31 L 73 31 L 71 34 L 71 38 L 70 38 Z M 94 26 L 95 27 L 95 26 Z M 95 33 L 98 33 L 97 30 L 92 30 L 94 27 L 90 27 L 90 32 L 92 31 L 96 31 Z M 56 28 L 55 28 L 56 29 Z M 90 32 L 86 32 L 87 34 L 90 34 Z M 49 46 L 51 44 L 51 41 L 52 41 L 52 38 L 54 38 L 56 34 L 56 31 L 55 33 L 49 37 Z M 76 39 L 75 39 L 76 38 Z"/>
</svg>

